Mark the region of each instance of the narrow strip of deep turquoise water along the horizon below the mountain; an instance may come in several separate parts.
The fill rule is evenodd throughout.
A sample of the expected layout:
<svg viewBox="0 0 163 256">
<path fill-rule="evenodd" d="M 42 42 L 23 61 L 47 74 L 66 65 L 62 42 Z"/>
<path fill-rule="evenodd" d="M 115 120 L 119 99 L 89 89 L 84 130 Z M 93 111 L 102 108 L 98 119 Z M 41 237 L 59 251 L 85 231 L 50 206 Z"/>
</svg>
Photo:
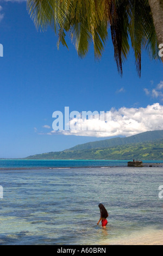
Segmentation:
<svg viewBox="0 0 163 256">
<path fill-rule="evenodd" d="M 1 164 L 2 161 L 2 164 Z M 128 166 L 128 160 L 0 160 L 0 170 L 65 169 L 65 168 L 163 168 L 163 161 L 142 162 Z M 34 163 L 33 163 L 34 162 Z M 82 164 L 81 164 L 82 162 Z M 9 163 L 9 164 L 8 164 Z"/>
</svg>

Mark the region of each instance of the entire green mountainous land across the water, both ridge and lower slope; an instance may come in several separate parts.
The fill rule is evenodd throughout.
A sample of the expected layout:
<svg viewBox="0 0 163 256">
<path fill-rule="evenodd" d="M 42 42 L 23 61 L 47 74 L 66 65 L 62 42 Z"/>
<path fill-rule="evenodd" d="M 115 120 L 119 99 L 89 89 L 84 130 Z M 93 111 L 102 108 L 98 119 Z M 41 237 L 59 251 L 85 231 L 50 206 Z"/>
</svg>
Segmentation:
<svg viewBox="0 0 163 256">
<path fill-rule="evenodd" d="M 36 154 L 24 159 L 163 160 L 163 130 L 80 144 L 63 151 Z"/>
</svg>

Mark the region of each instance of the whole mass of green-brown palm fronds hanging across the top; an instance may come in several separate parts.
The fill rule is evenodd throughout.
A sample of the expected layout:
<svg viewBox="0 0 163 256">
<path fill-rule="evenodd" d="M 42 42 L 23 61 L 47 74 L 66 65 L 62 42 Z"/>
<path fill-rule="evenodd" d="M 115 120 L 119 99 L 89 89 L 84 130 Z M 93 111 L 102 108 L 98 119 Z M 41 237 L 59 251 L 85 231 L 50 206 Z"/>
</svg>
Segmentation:
<svg viewBox="0 0 163 256">
<path fill-rule="evenodd" d="M 45 31 L 51 26 L 58 35 L 58 47 L 61 42 L 68 48 L 65 36 L 66 33 L 70 35 L 81 58 L 87 54 L 92 42 L 95 58 L 101 58 L 110 28 L 114 58 L 121 75 L 131 40 L 136 69 L 140 76 L 142 50 L 146 49 L 149 56 L 156 59 L 158 42 L 162 40 L 156 36 L 158 22 L 154 21 L 152 15 L 156 16 L 157 13 L 154 11 L 151 14 L 153 3 L 149 5 L 150 2 L 160 1 L 27 0 L 27 9 L 37 29 Z"/>
</svg>

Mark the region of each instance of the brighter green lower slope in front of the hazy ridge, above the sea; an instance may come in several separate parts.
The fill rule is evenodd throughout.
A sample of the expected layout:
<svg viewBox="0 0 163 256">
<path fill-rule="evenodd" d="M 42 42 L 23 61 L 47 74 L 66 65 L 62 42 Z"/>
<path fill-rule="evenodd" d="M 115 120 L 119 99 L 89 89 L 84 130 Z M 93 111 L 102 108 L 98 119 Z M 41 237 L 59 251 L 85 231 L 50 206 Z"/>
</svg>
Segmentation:
<svg viewBox="0 0 163 256">
<path fill-rule="evenodd" d="M 50 152 L 26 159 L 108 159 L 108 160 L 163 160 L 163 139 L 153 142 L 139 142 L 117 145 L 109 148 L 64 150 Z"/>
</svg>

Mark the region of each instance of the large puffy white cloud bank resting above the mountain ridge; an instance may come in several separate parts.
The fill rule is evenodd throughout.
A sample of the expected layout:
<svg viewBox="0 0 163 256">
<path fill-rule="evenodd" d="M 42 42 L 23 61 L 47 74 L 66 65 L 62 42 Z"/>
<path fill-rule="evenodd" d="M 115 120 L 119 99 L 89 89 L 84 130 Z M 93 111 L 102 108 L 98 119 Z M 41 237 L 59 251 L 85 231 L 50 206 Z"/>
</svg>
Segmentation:
<svg viewBox="0 0 163 256">
<path fill-rule="evenodd" d="M 163 129 L 163 106 L 159 103 L 148 105 L 146 108 L 111 109 L 111 120 L 107 123 L 99 119 L 76 119 L 70 120 L 70 125 L 77 122 L 78 130 L 51 131 L 46 134 L 112 137 L 131 136 L 137 133 Z M 80 130 L 81 124 L 92 127 L 92 130 Z M 94 130 L 93 130 L 94 129 Z"/>
</svg>

